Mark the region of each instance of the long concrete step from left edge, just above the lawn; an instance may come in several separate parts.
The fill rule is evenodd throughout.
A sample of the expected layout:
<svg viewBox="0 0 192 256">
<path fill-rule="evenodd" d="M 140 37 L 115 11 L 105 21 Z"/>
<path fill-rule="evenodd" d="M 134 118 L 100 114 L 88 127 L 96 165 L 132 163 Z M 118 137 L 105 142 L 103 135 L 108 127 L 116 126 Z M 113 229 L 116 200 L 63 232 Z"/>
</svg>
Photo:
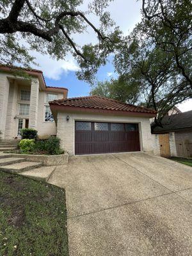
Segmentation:
<svg viewBox="0 0 192 256">
<path fill-rule="evenodd" d="M 9 173 L 20 173 L 28 171 L 34 168 L 41 167 L 43 164 L 38 162 L 22 162 L 17 164 L 8 164 L 5 166 L 0 166 L 0 171 L 9 172 Z"/>
</svg>

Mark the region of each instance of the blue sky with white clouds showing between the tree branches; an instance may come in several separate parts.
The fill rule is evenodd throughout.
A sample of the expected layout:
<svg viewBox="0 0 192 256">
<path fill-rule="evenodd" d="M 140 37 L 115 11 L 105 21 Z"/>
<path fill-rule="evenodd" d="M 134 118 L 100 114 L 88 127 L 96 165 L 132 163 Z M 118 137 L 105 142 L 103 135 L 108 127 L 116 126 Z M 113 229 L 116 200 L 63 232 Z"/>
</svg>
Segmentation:
<svg viewBox="0 0 192 256">
<path fill-rule="evenodd" d="M 87 10 L 89 0 L 85 0 L 81 10 Z M 141 20 L 141 0 L 114 0 L 109 4 L 108 11 L 111 17 L 116 22 L 116 26 L 128 35 L 136 23 Z M 90 15 L 88 17 L 97 27 L 97 17 Z M 88 29 L 83 35 L 74 35 L 74 40 L 77 44 L 86 44 L 89 42 L 97 42 L 97 37 L 91 29 Z M 36 62 L 39 64 L 38 69 L 44 72 L 45 82 L 47 86 L 59 86 L 68 88 L 68 97 L 79 97 L 89 95 L 91 86 L 84 81 L 79 81 L 76 77 L 76 71 L 79 69 L 74 58 L 68 54 L 65 60 L 52 60 L 48 55 L 42 55 L 38 52 L 32 52 L 36 57 Z M 101 67 L 97 72 L 96 79 L 104 81 L 115 76 L 115 71 L 111 63 L 111 58 L 106 66 Z M 179 104 L 178 108 L 181 111 L 192 110 L 192 99 Z"/>
</svg>

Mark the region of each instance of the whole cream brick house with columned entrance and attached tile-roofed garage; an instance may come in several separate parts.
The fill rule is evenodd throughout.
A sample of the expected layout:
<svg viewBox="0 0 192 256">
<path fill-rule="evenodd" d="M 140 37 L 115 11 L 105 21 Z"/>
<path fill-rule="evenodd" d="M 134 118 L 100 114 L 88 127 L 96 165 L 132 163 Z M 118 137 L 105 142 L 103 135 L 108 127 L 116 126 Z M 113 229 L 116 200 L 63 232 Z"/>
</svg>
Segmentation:
<svg viewBox="0 0 192 256">
<path fill-rule="evenodd" d="M 153 150 L 150 118 L 154 109 L 99 96 L 67 99 L 67 88 L 45 84 L 40 70 L 22 76 L 0 67 L 0 131 L 3 139 L 31 127 L 41 138 L 56 135 L 71 155 Z"/>
</svg>

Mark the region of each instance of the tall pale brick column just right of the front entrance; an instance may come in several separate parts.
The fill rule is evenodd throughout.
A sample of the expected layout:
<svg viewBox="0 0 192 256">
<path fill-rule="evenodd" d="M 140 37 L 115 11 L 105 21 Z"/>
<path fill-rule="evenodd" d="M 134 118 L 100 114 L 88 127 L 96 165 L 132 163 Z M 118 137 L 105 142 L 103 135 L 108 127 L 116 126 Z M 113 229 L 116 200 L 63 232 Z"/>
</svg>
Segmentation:
<svg viewBox="0 0 192 256">
<path fill-rule="evenodd" d="M 38 78 L 31 79 L 31 97 L 29 106 L 29 128 L 36 129 L 37 115 L 38 115 L 38 95 L 39 95 L 39 81 Z"/>
</svg>

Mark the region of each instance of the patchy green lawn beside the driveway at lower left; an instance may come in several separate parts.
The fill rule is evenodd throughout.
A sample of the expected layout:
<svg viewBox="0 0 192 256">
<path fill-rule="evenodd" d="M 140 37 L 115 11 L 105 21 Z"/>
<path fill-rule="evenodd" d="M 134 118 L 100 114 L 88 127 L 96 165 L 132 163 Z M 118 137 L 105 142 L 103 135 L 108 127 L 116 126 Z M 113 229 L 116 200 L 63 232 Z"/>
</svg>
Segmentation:
<svg viewBox="0 0 192 256">
<path fill-rule="evenodd" d="M 0 173 L 0 255 L 68 256 L 65 191 Z"/>
</svg>

